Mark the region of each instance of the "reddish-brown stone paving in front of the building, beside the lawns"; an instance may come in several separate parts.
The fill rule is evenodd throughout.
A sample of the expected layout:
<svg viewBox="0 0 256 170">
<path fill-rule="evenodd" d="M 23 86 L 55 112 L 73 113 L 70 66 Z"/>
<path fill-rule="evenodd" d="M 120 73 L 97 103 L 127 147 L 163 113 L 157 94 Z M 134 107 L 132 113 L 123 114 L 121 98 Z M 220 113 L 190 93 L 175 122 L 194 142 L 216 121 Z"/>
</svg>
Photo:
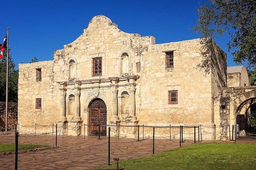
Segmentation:
<svg viewBox="0 0 256 170">
<path fill-rule="evenodd" d="M 95 169 L 106 166 L 108 159 L 108 139 L 96 136 L 58 136 L 58 148 L 20 153 L 18 169 Z M 0 143 L 15 143 L 14 134 L 1 135 Z M 185 141 L 183 146 L 191 144 Z M 55 137 L 20 136 L 19 144 L 55 145 Z M 156 139 L 155 153 L 179 147 L 179 140 Z M 111 138 L 111 164 L 113 158 L 120 160 L 146 157 L 152 154 L 152 138 L 143 141 L 136 139 Z M 0 155 L 0 169 L 14 169 L 15 154 Z"/>
</svg>

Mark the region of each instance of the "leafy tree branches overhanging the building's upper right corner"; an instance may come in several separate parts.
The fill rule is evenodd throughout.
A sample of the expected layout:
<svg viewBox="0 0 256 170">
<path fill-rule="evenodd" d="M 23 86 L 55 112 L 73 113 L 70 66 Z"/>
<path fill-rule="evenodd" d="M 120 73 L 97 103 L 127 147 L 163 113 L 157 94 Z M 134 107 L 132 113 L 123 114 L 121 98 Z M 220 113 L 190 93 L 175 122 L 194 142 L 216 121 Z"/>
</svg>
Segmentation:
<svg viewBox="0 0 256 170">
<path fill-rule="evenodd" d="M 209 40 L 228 32 L 228 51 L 232 50 L 233 60 L 247 61 L 249 68 L 256 68 L 255 0 L 209 0 L 197 10 L 199 18 L 194 30 L 202 34 L 206 48 L 212 44 Z"/>
</svg>

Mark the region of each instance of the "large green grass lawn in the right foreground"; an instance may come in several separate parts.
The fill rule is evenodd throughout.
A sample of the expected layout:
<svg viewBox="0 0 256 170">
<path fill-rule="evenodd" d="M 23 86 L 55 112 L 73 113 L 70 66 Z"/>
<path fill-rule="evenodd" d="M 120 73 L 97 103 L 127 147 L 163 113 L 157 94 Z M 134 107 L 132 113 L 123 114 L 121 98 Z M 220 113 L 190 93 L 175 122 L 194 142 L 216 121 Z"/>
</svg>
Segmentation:
<svg viewBox="0 0 256 170">
<path fill-rule="evenodd" d="M 113 158 L 112 158 L 113 159 Z M 116 168 L 116 165 L 104 167 Z M 120 161 L 127 169 L 256 169 L 255 144 L 200 143 Z"/>
</svg>

